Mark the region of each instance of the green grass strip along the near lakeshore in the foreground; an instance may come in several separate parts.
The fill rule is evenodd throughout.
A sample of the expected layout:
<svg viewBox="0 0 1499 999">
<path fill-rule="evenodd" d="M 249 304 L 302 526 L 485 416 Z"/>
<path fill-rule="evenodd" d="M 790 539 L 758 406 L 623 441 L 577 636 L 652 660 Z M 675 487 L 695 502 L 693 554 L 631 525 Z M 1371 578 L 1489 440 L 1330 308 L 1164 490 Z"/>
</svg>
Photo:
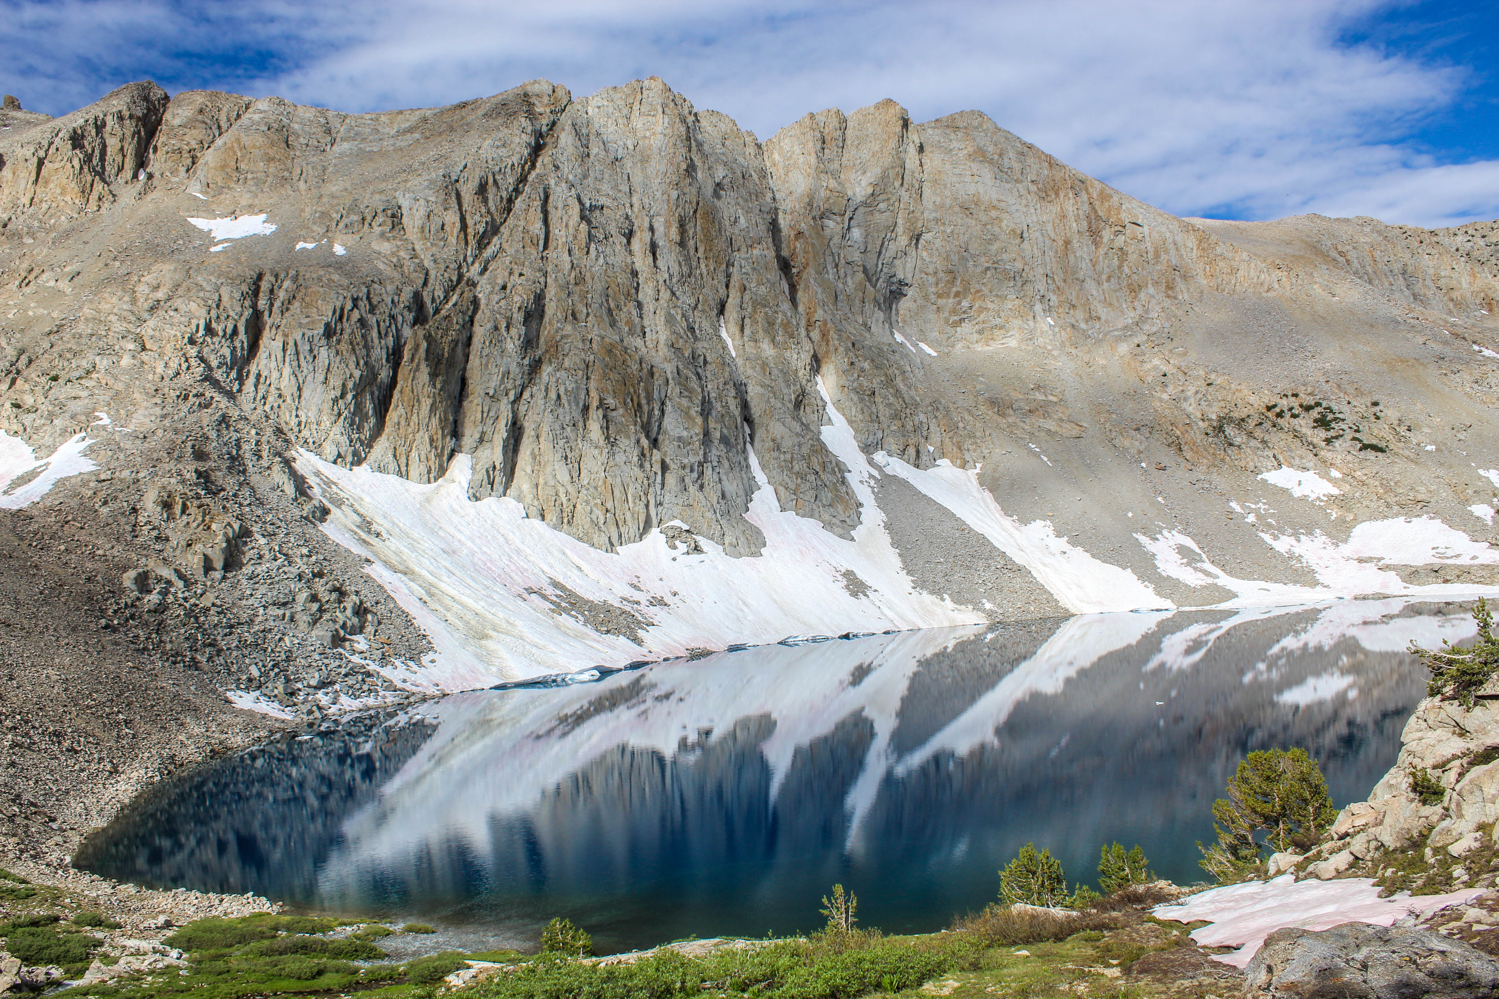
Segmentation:
<svg viewBox="0 0 1499 999">
<path fill-rule="evenodd" d="M 1100 903 L 1102 909 L 1079 914 L 992 905 L 941 933 L 886 936 L 878 930 L 824 930 L 797 939 L 752 941 L 702 957 L 661 950 L 633 965 L 526 956 L 511 950 L 444 951 L 405 963 L 388 962 L 381 960 L 385 954 L 372 942 L 385 929 L 378 924 L 358 927 L 349 936 L 327 936 L 337 926 L 334 920 L 258 914 L 199 920 L 177 930 L 168 942 L 190 953 L 186 969 L 117 978 L 60 995 L 69 999 L 270 999 L 358 993 L 361 999 L 432 999 L 447 975 L 469 960 L 483 960 L 504 963 L 511 971 L 453 995 L 463 999 L 857 999 L 935 992 L 953 999 L 1054 995 L 1147 999 L 1166 993 L 1148 981 L 1121 986 L 1121 972 L 1111 969 L 1180 945 L 1178 936 L 1148 926 L 1138 908 L 1130 908 L 1148 902 L 1151 899 L 1129 902 L 1114 896 Z M 1111 905 L 1124 911 L 1106 911 Z M 60 924 L 57 917 L 21 921 L 34 924 L 16 926 L 12 920 L 0 929 L 21 938 L 45 935 L 52 941 L 81 936 L 69 933 L 70 926 Z M 355 962 L 378 963 L 360 966 Z"/>
</svg>

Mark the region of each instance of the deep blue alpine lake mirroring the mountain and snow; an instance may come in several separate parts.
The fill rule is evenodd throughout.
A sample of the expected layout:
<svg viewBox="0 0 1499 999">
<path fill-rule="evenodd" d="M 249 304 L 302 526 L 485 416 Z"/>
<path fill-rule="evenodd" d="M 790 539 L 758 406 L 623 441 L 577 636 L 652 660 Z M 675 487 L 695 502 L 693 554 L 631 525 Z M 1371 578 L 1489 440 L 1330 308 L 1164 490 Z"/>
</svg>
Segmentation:
<svg viewBox="0 0 1499 999">
<path fill-rule="evenodd" d="M 208 764 L 75 863 L 111 878 L 421 918 L 469 948 L 567 915 L 601 953 L 820 924 L 935 930 L 1034 842 L 1202 879 L 1211 801 L 1301 746 L 1339 806 L 1394 762 L 1468 608 L 1351 601 L 1138 613 L 721 653 L 463 693 Z"/>
</svg>

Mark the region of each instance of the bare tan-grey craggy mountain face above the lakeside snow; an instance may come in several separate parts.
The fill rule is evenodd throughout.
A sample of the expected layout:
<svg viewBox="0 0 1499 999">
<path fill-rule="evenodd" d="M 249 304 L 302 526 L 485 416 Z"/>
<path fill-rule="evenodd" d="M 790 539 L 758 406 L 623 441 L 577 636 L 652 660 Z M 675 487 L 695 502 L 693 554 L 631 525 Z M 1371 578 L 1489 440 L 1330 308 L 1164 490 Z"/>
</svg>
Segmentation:
<svg viewBox="0 0 1499 999">
<path fill-rule="evenodd" d="M 1445 448 L 1499 448 L 1486 231 L 1175 219 L 977 112 L 893 102 L 761 144 L 658 79 L 366 115 L 132 84 L 3 114 L 0 428 L 31 445 L 97 412 L 181 436 L 211 395 L 225 460 L 294 491 L 295 448 L 415 482 L 460 458 L 472 499 L 589 545 L 682 521 L 745 556 L 755 464 L 784 511 L 875 523 L 830 404 L 865 454 L 974 470 L 1178 604 L 1228 590 L 1163 572 L 1139 512 L 1312 583 L 1220 500 L 1334 460 L 1331 526 L 1279 529 L 1492 494 Z M 1292 392 L 1334 409 L 1298 422 Z M 985 614 L 1034 605 L 1001 589 Z"/>
</svg>

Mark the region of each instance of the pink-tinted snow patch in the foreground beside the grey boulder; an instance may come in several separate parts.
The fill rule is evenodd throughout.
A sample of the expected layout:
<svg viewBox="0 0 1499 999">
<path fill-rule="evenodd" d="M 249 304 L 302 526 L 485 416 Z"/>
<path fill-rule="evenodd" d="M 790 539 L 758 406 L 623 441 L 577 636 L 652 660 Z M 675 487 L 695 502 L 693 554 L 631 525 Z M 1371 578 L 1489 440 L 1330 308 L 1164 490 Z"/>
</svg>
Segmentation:
<svg viewBox="0 0 1499 999">
<path fill-rule="evenodd" d="M 1445 896 L 1412 897 L 1402 891 L 1381 899 L 1370 878 L 1297 881 L 1295 875 L 1282 875 L 1211 888 L 1183 905 L 1159 905 L 1151 915 L 1178 923 L 1211 920 L 1211 926 L 1193 930 L 1192 939 L 1199 947 L 1237 947 L 1231 954 L 1214 954 L 1213 960 L 1244 968 L 1267 936 L 1288 926 L 1303 930 L 1330 930 L 1345 923 L 1394 926 L 1412 912 L 1424 915 L 1483 893 L 1483 888 L 1468 888 Z"/>
</svg>

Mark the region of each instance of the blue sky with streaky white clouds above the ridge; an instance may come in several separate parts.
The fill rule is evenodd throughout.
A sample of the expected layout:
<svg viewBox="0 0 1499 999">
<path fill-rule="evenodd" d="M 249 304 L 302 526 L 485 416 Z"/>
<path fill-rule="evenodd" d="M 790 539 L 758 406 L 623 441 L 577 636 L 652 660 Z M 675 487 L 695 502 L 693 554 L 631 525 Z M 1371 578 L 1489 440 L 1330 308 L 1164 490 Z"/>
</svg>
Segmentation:
<svg viewBox="0 0 1499 999">
<path fill-rule="evenodd" d="M 0 0 L 0 90 L 361 112 L 661 76 L 761 139 L 890 97 L 1180 216 L 1447 226 L 1499 217 L 1495 37 L 1493 0 Z"/>
</svg>

